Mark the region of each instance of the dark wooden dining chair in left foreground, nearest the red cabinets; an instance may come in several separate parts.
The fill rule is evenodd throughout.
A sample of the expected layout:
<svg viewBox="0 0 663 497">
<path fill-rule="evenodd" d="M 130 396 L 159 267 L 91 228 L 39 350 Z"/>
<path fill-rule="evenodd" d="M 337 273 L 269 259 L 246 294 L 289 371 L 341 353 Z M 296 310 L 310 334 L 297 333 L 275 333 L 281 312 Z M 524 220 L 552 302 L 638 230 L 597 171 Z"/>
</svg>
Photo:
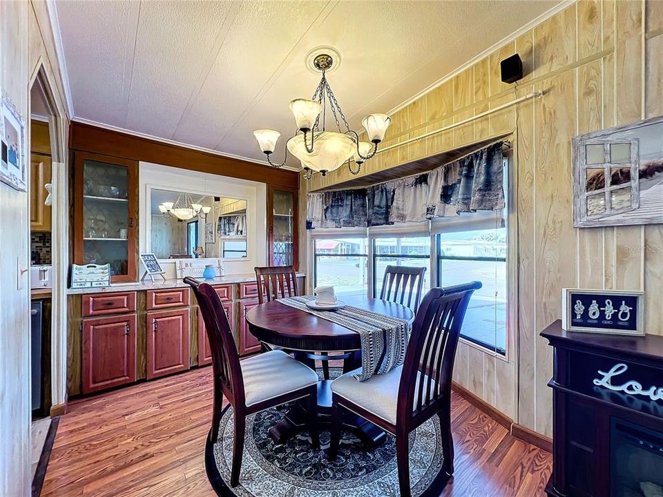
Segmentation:
<svg viewBox="0 0 663 497">
<path fill-rule="evenodd" d="M 218 440 L 224 396 L 235 413 L 230 486 L 236 487 L 239 483 L 246 418 L 253 413 L 305 399 L 311 442 L 318 449 L 316 372 L 283 351 L 269 351 L 240 362 L 233 331 L 218 293 L 209 284 L 192 277 L 185 277 L 184 282 L 191 285 L 198 300 L 212 353 L 214 402 L 209 431 L 211 442 Z"/>
</svg>

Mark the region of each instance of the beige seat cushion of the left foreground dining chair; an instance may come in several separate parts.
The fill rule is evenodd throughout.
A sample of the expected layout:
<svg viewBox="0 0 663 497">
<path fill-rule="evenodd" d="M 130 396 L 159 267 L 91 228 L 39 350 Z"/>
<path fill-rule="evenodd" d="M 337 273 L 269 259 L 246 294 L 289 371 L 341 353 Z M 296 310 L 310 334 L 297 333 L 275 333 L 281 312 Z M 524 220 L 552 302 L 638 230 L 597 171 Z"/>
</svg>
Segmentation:
<svg viewBox="0 0 663 497">
<path fill-rule="evenodd" d="M 269 351 L 240 361 L 246 405 L 290 393 L 318 382 L 315 371 L 283 351 Z"/>
</svg>

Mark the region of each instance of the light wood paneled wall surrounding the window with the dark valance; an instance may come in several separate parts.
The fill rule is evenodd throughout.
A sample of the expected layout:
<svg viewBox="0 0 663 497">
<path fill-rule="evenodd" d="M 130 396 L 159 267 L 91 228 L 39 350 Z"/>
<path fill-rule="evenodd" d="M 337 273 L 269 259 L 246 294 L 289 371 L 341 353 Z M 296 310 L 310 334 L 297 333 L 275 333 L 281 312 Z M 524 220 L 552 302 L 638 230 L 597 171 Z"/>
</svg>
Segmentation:
<svg viewBox="0 0 663 497">
<path fill-rule="evenodd" d="M 517 85 L 503 84 L 499 61 L 515 52 L 526 76 Z M 578 230 L 571 211 L 571 138 L 663 114 L 663 2 L 582 0 L 568 6 L 394 113 L 385 146 L 535 90 L 544 97 L 380 153 L 363 174 L 513 132 L 510 188 L 517 201 L 510 215 L 518 228 L 511 247 L 517 253 L 512 305 L 519 318 L 512 324 L 509 362 L 461 344 L 455 379 L 520 425 L 550 436 L 552 350 L 539 332 L 560 317 L 562 287 L 644 289 L 648 333 L 663 335 L 663 307 L 655 300 L 663 226 Z M 325 178 L 302 179 L 300 217 L 307 190 L 349 177 L 340 168 Z"/>
</svg>

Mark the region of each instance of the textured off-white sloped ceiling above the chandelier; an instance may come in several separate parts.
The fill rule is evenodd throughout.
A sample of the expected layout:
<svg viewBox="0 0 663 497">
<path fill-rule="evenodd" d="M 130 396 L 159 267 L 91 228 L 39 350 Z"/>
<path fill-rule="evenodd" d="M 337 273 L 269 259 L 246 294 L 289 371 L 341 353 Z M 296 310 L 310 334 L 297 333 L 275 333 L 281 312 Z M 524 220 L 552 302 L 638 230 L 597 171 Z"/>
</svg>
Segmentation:
<svg viewBox="0 0 663 497">
<path fill-rule="evenodd" d="M 557 1 L 57 0 L 74 115 L 264 159 L 256 128 L 294 131 L 309 51 L 340 52 L 329 82 L 350 124 L 387 112 Z"/>
</svg>

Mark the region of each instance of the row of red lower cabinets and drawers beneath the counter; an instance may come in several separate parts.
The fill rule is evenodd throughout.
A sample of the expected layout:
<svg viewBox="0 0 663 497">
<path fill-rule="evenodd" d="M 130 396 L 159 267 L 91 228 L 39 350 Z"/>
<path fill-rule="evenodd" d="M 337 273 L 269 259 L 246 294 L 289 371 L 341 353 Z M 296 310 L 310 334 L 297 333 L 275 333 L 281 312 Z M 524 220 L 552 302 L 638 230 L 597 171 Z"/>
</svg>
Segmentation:
<svg viewBox="0 0 663 497">
<path fill-rule="evenodd" d="M 298 278 L 300 289 L 303 277 Z M 240 355 L 260 352 L 246 314 L 258 284 L 213 285 Z M 211 364 L 202 314 L 188 286 L 68 298 L 68 394 L 76 396 Z"/>
</svg>

